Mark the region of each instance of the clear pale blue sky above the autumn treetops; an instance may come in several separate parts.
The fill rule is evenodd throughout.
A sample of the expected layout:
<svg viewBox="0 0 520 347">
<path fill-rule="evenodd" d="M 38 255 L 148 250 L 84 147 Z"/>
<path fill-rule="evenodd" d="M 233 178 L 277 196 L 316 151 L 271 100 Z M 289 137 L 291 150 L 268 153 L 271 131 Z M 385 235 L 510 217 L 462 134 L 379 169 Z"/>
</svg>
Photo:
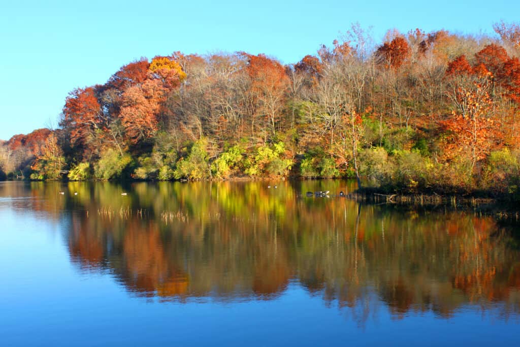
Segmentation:
<svg viewBox="0 0 520 347">
<path fill-rule="evenodd" d="M 141 56 L 224 50 L 284 63 L 330 45 L 350 23 L 386 30 L 492 33 L 520 2 L 480 1 L 4 1 L 0 4 L 0 138 L 55 124 L 75 87 L 105 83 Z"/>
</svg>

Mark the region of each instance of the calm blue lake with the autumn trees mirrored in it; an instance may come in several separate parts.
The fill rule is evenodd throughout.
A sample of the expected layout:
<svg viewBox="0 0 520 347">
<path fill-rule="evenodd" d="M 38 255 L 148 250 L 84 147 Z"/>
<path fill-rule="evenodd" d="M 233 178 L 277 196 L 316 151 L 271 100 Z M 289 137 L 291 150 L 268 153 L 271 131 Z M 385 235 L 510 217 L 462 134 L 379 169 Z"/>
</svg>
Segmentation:
<svg viewBox="0 0 520 347">
<path fill-rule="evenodd" d="M 0 183 L 0 345 L 520 343 L 517 225 L 268 184 Z"/>
</svg>

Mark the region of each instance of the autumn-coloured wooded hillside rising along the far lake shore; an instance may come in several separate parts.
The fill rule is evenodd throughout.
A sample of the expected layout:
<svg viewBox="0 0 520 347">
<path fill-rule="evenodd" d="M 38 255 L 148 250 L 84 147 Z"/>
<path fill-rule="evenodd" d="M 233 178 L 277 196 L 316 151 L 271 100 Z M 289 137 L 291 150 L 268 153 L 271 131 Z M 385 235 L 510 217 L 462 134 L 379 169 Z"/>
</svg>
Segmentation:
<svg viewBox="0 0 520 347">
<path fill-rule="evenodd" d="M 494 34 L 359 23 L 282 65 L 140 58 L 0 143 L 0 179 L 357 178 L 383 191 L 520 199 L 520 23 Z"/>
</svg>

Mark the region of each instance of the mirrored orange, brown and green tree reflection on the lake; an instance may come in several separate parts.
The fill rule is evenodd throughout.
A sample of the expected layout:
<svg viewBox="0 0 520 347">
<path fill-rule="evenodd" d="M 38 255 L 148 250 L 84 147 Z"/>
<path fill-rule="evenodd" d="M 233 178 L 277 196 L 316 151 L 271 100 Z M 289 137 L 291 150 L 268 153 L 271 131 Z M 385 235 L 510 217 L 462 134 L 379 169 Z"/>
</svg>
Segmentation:
<svg viewBox="0 0 520 347">
<path fill-rule="evenodd" d="M 261 182 L 6 183 L 0 196 L 10 199 L 0 203 L 67 220 L 80 271 L 109 272 L 139 297 L 272 300 L 296 284 L 360 322 L 381 305 L 396 319 L 449 318 L 468 308 L 505 318 L 520 312 L 514 226 L 467 211 L 301 197 L 352 188 L 343 181 L 281 182 L 276 190 Z"/>
</svg>

